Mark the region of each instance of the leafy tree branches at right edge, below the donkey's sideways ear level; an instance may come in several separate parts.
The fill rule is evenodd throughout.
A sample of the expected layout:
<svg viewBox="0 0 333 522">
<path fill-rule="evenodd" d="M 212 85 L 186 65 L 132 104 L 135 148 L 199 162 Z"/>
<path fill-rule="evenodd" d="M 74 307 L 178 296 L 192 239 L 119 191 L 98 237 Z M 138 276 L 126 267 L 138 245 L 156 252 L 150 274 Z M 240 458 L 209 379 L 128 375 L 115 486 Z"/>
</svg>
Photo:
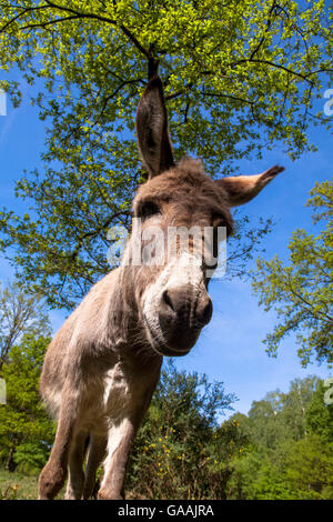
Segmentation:
<svg viewBox="0 0 333 522">
<path fill-rule="evenodd" d="M 316 183 L 307 207 L 315 212 L 317 235 L 295 230 L 289 243 L 289 265 L 275 255 L 272 261 L 258 260 L 253 288 L 265 311 L 272 308 L 281 322 L 263 341 L 275 357 L 280 342 L 299 332 L 299 357 L 305 367 L 313 357 L 333 362 L 333 182 Z"/>
</svg>

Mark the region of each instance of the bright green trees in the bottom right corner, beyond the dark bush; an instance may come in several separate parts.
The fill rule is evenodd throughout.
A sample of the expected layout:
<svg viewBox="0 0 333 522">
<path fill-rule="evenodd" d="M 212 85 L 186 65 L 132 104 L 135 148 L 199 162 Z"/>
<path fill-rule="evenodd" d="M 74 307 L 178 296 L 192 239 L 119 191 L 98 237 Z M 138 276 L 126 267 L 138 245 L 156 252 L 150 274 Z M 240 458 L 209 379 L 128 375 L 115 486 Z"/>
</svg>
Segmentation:
<svg viewBox="0 0 333 522">
<path fill-rule="evenodd" d="M 231 463 L 228 499 L 332 499 L 332 412 L 322 384 L 295 379 L 287 393 L 253 402 L 248 418 L 233 415 L 248 444 Z"/>
</svg>

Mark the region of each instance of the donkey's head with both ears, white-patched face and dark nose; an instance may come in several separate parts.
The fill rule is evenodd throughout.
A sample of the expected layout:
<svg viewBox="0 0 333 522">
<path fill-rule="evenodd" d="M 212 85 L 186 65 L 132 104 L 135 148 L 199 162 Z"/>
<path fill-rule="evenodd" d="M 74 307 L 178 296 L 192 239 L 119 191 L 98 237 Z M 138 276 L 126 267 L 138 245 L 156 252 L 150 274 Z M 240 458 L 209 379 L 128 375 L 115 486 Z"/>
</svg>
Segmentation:
<svg viewBox="0 0 333 522">
<path fill-rule="evenodd" d="M 153 349 L 162 355 L 184 355 L 212 315 L 208 283 L 215 267 L 218 229 L 224 228 L 228 237 L 230 208 L 250 201 L 283 169 L 214 181 L 199 160 L 185 158 L 175 164 L 158 77 L 140 100 L 137 134 L 148 181 L 133 201 L 139 220 L 134 220 L 132 241 L 140 238 L 154 262 L 140 258 L 135 300 Z M 180 239 L 179 231 L 188 231 L 188 241 Z"/>
</svg>

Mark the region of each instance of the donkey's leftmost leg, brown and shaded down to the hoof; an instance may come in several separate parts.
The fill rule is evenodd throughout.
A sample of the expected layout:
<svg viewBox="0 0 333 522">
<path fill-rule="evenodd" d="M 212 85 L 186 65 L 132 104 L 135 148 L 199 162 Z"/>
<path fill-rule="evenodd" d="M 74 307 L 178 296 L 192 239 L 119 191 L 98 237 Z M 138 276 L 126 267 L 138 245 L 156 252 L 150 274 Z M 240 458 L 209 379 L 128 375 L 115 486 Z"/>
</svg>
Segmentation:
<svg viewBox="0 0 333 522">
<path fill-rule="evenodd" d="M 78 419 L 78 400 L 63 390 L 57 434 L 50 458 L 39 478 L 39 499 L 52 500 L 64 484 L 68 462 Z"/>
</svg>

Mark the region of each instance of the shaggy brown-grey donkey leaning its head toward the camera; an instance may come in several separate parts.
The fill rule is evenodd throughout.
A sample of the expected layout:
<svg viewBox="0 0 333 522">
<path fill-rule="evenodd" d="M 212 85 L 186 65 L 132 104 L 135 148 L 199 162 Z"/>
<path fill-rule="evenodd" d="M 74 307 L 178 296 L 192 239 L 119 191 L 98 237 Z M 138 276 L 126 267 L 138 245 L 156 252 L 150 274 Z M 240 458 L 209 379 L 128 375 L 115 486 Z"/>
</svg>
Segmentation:
<svg viewBox="0 0 333 522">
<path fill-rule="evenodd" d="M 53 499 L 68 474 L 65 499 L 91 498 L 102 462 L 98 499 L 124 498 L 129 454 L 163 357 L 185 355 L 211 319 L 205 245 L 190 241 L 185 252 L 178 244 L 154 264 L 131 262 L 133 242 L 144 243 L 144 230 L 152 225 L 165 232 L 171 225 L 225 227 L 229 235 L 230 209 L 250 201 L 283 170 L 275 165 L 262 174 L 214 181 L 199 160 L 175 163 L 157 74 L 139 102 L 137 137 L 148 172 L 133 199 L 140 232 L 134 225 L 121 265 L 92 287 L 46 354 L 40 391 L 58 429 L 40 474 L 40 499 Z"/>
</svg>

